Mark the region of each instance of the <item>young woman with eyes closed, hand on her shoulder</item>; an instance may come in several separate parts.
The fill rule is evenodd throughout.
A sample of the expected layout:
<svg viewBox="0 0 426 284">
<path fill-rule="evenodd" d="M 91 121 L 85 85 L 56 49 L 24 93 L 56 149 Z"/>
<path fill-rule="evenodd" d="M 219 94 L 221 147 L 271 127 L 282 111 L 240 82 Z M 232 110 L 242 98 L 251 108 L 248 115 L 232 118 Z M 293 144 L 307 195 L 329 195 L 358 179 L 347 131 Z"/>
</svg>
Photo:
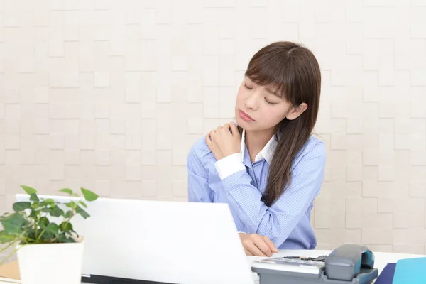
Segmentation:
<svg viewBox="0 0 426 284">
<path fill-rule="evenodd" d="M 200 138 L 188 154 L 189 201 L 229 204 L 247 255 L 317 245 L 310 211 L 325 166 L 324 143 L 312 136 L 320 90 L 310 50 L 271 43 L 249 62 L 236 121 Z"/>
</svg>

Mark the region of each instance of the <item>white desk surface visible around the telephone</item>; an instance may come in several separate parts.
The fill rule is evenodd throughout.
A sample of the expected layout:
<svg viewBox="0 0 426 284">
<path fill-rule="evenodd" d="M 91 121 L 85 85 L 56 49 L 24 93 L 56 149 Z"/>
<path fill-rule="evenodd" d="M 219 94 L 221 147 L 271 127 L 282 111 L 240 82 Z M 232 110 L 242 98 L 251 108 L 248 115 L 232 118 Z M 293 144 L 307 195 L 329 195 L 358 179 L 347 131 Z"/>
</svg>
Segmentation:
<svg viewBox="0 0 426 284">
<path fill-rule="evenodd" d="M 331 251 L 326 250 L 280 250 L 278 253 L 275 253 L 273 256 L 324 256 L 331 253 Z M 383 268 L 388 263 L 393 263 L 403 258 L 418 258 L 418 257 L 426 257 L 426 255 L 421 254 L 406 254 L 406 253 L 381 253 L 381 252 L 373 252 L 375 256 L 374 267 L 378 268 L 378 273 L 380 274 Z M 247 256 L 247 264 L 251 266 L 251 263 L 259 258 L 263 258 L 260 256 Z M 253 273 L 254 275 L 254 273 Z M 254 280 L 257 280 L 256 276 L 253 276 Z M 257 281 L 256 281 L 257 282 Z M 9 283 L 0 281 L 0 283 Z M 84 283 L 82 283 L 84 284 Z"/>
</svg>

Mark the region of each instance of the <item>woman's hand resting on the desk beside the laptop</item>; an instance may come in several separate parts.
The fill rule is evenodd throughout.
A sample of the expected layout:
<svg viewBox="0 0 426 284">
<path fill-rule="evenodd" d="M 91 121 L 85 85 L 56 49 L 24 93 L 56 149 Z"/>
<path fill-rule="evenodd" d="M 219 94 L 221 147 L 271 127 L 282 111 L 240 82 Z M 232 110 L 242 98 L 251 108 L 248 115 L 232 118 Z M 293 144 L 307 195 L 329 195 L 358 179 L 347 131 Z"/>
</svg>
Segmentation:
<svg viewBox="0 0 426 284">
<path fill-rule="evenodd" d="M 259 234 L 239 233 L 241 243 L 244 246 L 247 256 L 272 256 L 272 253 L 278 253 L 275 244 L 267 236 Z"/>
</svg>

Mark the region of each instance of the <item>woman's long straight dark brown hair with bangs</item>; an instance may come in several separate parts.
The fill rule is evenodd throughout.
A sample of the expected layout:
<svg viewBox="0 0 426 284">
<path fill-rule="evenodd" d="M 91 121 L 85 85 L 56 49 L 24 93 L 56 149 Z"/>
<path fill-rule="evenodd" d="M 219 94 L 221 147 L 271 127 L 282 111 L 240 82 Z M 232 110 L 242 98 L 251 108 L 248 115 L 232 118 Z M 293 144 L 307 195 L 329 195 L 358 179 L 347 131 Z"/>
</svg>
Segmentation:
<svg viewBox="0 0 426 284">
<path fill-rule="evenodd" d="M 295 155 L 307 142 L 317 121 L 320 107 L 321 72 L 312 52 L 300 44 L 288 41 L 271 43 L 259 50 L 249 62 L 247 77 L 256 84 L 277 91 L 297 107 L 307 104 L 297 119 L 283 119 L 278 124 L 278 141 L 268 173 L 263 202 L 270 207 L 290 185 Z"/>
</svg>

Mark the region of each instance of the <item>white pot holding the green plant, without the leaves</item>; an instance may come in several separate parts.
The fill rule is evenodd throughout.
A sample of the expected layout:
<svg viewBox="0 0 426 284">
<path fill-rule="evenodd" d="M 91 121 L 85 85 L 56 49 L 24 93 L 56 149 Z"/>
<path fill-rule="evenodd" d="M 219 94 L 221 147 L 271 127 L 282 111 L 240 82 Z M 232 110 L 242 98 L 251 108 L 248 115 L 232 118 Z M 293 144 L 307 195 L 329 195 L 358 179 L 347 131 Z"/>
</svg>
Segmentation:
<svg viewBox="0 0 426 284">
<path fill-rule="evenodd" d="M 22 284 L 80 284 L 84 239 L 16 246 Z"/>
</svg>

